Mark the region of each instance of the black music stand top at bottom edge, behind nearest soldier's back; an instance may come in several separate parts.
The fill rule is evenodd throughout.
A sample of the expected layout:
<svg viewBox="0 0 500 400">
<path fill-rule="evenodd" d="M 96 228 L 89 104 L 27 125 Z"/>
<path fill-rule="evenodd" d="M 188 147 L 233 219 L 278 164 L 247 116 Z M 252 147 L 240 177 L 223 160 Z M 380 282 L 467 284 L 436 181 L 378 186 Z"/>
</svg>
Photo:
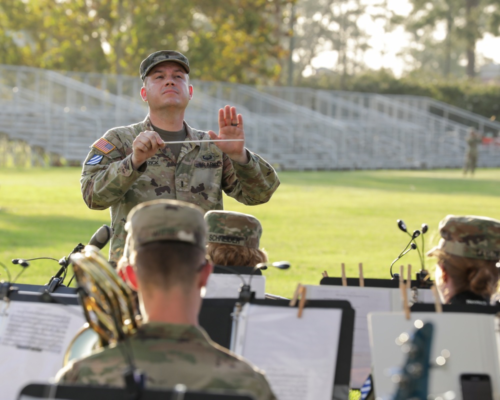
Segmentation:
<svg viewBox="0 0 500 400">
<path fill-rule="evenodd" d="M 131 400 L 125 388 L 67 384 L 30 383 L 24 386 L 17 400 L 54 398 L 63 400 Z M 227 391 L 175 391 L 144 389 L 133 400 L 255 400 L 253 396 L 231 394 Z"/>
</svg>

